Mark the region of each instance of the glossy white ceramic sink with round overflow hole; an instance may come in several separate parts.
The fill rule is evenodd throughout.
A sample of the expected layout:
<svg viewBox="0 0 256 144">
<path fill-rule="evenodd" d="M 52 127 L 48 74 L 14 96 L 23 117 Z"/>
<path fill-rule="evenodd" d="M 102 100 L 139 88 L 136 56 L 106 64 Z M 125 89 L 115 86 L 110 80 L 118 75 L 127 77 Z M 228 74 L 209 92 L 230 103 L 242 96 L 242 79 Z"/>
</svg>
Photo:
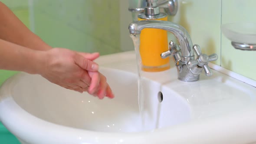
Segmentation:
<svg viewBox="0 0 256 144">
<path fill-rule="evenodd" d="M 181 82 L 172 63 L 164 72 L 143 72 L 140 112 L 135 53 L 102 56 L 96 62 L 114 99 L 99 100 L 40 75 L 19 73 L 0 88 L 1 122 L 22 144 L 256 141 L 256 88 L 251 85 L 214 70 L 212 77 Z"/>
</svg>

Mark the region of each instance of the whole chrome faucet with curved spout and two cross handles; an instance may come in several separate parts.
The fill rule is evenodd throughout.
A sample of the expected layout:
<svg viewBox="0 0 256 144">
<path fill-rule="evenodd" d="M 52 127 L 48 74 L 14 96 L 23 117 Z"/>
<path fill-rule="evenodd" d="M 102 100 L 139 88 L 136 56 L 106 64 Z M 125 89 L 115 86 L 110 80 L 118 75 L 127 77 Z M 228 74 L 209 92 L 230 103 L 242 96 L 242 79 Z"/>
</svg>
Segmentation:
<svg viewBox="0 0 256 144">
<path fill-rule="evenodd" d="M 129 25 L 131 34 L 140 34 L 141 30 L 144 28 L 164 29 L 176 36 L 180 45 L 175 45 L 171 41 L 169 43 L 169 50 L 159 54 L 159 56 L 163 59 L 167 58 L 167 56 L 174 56 L 179 80 L 184 82 L 197 81 L 199 80 L 200 73 L 203 69 L 207 76 L 212 75 L 208 63 L 217 60 L 217 54 L 212 54 L 210 56 L 202 54 L 198 45 L 193 46 L 190 35 L 184 27 L 177 23 L 161 20 L 136 21 Z M 197 59 L 195 59 L 194 52 L 197 55 Z"/>
</svg>

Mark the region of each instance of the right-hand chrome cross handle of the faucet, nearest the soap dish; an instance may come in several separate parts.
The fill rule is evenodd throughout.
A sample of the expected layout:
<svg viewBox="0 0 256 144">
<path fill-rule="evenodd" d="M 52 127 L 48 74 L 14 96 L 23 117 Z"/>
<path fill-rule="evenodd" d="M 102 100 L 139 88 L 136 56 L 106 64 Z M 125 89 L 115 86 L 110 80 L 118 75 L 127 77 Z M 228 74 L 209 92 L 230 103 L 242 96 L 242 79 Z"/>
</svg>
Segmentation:
<svg viewBox="0 0 256 144">
<path fill-rule="evenodd" d="M 193 49 L 197 55 L 197 59 L 188 61 L 186 64 L 187 67 L 193 68 L 196 65 L 199 67 L 203 67 L 205 75 L 211 76 L 213 74 L 213 72 L 211 71 L 210 67 L 208 66 L 208 63 L 210 61 L 217 60 L 218 55 L 214 53 L 214 54 L 211 54 L 210 56 L 207 56 L 206 54 L 203 54 L 201 52 L 200 46 L 198 46 L 198 45 L 194 45 Z"/>
</svg>

